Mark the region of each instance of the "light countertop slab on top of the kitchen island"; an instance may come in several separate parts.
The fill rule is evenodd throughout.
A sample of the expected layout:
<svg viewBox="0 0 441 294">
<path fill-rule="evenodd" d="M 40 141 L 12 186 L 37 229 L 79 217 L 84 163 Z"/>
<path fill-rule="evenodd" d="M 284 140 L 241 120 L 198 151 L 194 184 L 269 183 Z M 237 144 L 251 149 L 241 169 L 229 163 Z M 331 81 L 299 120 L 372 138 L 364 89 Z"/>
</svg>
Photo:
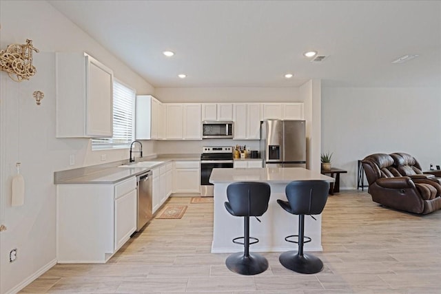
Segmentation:
<svg viewBox="0 0 441 294">
<path fill-rule="evenodd" d="M 242 181 L 256 181 L 268 183 L 288 183 L 293 180 L 326 180 L 334 182 L 335 179 L 324 176 L 319 172 L 310 171 L 302 167 L 264 167 L 251 169 L 213 169 L 209 182 L 229 183 Z"/>
</svg>

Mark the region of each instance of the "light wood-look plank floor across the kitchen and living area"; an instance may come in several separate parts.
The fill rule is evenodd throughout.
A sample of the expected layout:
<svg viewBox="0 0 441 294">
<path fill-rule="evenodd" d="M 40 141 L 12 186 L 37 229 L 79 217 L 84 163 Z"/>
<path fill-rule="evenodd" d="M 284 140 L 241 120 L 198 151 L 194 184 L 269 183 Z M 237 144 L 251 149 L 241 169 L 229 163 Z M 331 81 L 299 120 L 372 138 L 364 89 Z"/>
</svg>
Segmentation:
<svg viewBox="0 0 441 294">
<path fill-rule="evenodd" d="M 441 211 L 415 216 L 367 193 L 338 193 L 323 212 L 324 250 L 314 253 L 322 272 L 294 273 L 279 253 L 264 253 L 269 269 L 242 276 L 225 267 L 228 254 L 210 253 L 212 203 L 169 204 L 188 205 L 181 220 L 154 219 L 107 264 L 58 264 L 22 293 L 441 293 Z"/>
</svg>

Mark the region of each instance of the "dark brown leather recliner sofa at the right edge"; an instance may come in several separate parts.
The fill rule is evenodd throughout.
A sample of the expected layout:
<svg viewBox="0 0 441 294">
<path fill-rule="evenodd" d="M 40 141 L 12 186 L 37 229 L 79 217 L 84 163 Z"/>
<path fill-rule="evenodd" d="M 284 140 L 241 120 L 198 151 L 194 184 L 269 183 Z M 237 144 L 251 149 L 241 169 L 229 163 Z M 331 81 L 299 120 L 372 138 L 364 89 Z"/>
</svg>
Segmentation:
<svg viewBox="0 0 441 294">
<path fill-rule="evenodd" d="M 362 160 L 362 165 L 374 202 L 411 213 L 441 209 L 441 178 L 423 174 L 413 156 L 371 154 Z"/>
</svg>

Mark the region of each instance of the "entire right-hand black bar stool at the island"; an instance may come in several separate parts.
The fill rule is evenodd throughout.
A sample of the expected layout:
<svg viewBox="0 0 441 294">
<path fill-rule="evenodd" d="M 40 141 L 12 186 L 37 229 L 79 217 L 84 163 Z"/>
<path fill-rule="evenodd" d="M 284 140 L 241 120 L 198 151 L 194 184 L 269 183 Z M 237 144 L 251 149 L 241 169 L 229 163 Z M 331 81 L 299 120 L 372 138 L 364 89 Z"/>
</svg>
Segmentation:
<svg viewBox="0 0 441 294">
<path fill-rule="evenodd" d="M 311 238 L 305 236 L 305 215 L 322 213 L 328 199 L 328 191 L 329 182 L 324 180 L 290 182 L 285 188 L 288 201 L 277 200 L 283 209 L 298 215 L 298 235 L 289 235 L 285 238 L 287 242 L 298 243 L 298 251 L 284 252 L 278 258 L 285 268 L 297 273 L 322 271 L 323 262 L 320 258 L 303 253 L 303 244 L 311 242 Z M 298 237 L 298 241 L 289 240 L 293 237 Z"/>
</svg>

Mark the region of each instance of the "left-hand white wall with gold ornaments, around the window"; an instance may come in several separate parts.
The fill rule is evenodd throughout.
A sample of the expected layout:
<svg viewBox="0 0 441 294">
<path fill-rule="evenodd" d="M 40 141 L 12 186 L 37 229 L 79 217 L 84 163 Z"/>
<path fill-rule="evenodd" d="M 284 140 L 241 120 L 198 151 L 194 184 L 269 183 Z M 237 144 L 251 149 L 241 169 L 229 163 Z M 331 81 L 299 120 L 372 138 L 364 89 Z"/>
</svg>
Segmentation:
<svg viewBox="0 0 441 294">
<path fill-rule="evenodd" d="M 45 1 L 0 1 L 1 49 L 11 43 L 32 39 L 40 53 L 34 53 L 37 74 L 30 81 L 16 83 L 0 73 L 0 209 L 8 227 L 0 233 L 0 293 L 15 291 L 56 259 L 54 171 L 127 159 L 127 149 L 91 151 L 88 139 L 55 138 L 54 52 L 88 52 L 114 70 L 115 77 L 139 94 L 153 94 L 154 88 L 116 59 Z M 42 90 L 45 98 L 35 104 L 32 92 Z M 152 154 L 154 143 L 145 145 Z M 69 165 L 74 154 L 76 165 Z M 15 162 L 21 161 L 25 178 L 25 204 L 10 206 L 10 183 Z M 15 262 L 9 251 L 17 248 Z M 14 290 L 15 289 L 15 290 Z"/>
</svg>

